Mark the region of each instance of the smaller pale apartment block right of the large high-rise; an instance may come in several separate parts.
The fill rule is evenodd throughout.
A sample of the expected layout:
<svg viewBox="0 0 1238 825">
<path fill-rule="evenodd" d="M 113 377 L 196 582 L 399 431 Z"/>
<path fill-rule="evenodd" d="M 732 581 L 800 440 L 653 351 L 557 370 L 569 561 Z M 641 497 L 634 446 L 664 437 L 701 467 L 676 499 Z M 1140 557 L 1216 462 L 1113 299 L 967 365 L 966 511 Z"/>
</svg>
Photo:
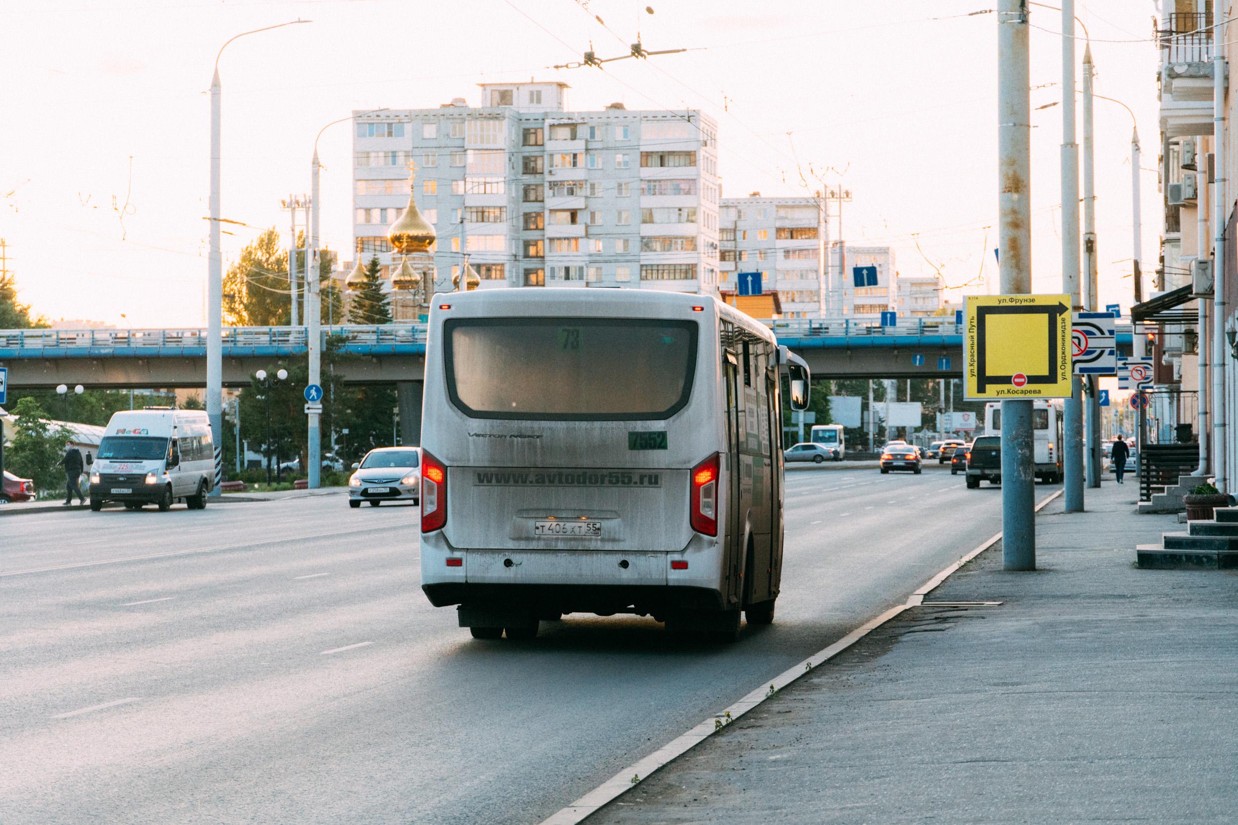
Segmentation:
<svg viewBox="0 0 1238 825">
<path fill-rule="evenodd" d="M 718 229 L 719 289 L 735 292 L 743 272 L 760 272 L 784 318 L 825 313 L 826 213 L 820 198 L 723 198 Z"/>
</svg>

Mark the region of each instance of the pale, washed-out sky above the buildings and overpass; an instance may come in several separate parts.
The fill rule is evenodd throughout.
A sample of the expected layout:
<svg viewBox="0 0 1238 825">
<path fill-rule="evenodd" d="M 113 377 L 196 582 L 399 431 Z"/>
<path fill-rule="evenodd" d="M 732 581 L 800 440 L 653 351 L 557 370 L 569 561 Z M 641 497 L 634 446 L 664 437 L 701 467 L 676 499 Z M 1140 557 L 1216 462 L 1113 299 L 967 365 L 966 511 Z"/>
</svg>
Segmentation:
<svg viewBox="0 0 1238 825">
<path fill-rule="evenodd" d="M 233 35 L 298 17 L 313 22 L 241 38 L 220 62 L 223 216 L 248 224 L 224 235 L 225 266 L 264 228 L 287 231 L 280 199 L 308 190 L 324 124 L 456 96 L 478 105 L 477 83 L 534 77 L 569 83 L 577 110 L 615 100 L 703 109 L 719 124 L 724 197 L 803 194 L 799 162 L 813 188 L 810 167 L 853 192 L 848 244 L 894 246 L 903 275 L 936 265 L 947 284 L 974 284 L 953 299 L 983 292 L 984 275 L 995 281 L 997 22 L 968 16 L 994 0 L 652 0 L 652 16 L 641 11 L 649 1 L 5 0 L 0 237 L 21 297 L 52 319 L 204 324 L 215 52 Z M 1161 203 L 1155 6 L 1076 6 L 1097 93 L 1139 121 L 1148 272 Z M 578 61 L 589 41 L 603 57 L 621 54 L 638 24 L 647 49 L 697 51 L 605 71 L 548 68 Z M 1061 15 L 1035 7 L 1032 24 L 1035 108 L 1061 99 Z M 1032 119 L 1032 272 L 1045 293 L 1061 288 L 1061 111 Z M 1078 118 L 1082 142 L 1082 109 Z M 1122 106 L 1097 100 L 1099 297 L 1124 308 L 1130 131 Z M 347 251 L 348 125 L 329 129 L 319 150 L 323 241 Z"/>
</svg>

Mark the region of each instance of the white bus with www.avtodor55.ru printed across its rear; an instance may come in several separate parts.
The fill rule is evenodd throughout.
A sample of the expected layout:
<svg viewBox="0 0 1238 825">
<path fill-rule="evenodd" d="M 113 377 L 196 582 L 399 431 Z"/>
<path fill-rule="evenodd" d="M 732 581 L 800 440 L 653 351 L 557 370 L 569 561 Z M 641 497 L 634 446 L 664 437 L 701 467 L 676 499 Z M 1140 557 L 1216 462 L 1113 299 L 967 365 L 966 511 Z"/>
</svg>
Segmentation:
<svg viewBox="0 0 1238 825">
<path fill-rule="evenodd" d="M 782 416 L 808 371 L 712 298 L 638 289 L 436 296 L 421 581 L 475 638 L 651 615 L 735 638 L 774 620 Z"/>
</svg>

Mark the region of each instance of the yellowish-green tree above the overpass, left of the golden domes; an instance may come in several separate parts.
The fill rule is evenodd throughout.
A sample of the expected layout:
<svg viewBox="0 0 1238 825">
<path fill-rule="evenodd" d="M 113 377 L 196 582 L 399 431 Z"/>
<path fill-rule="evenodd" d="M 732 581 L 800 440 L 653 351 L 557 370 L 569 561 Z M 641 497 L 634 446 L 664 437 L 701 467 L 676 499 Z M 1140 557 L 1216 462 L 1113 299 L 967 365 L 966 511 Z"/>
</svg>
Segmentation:
<svg viewBox="0 0 1238 825">
<path fill-rule="evenodd" d="M 288 251 L 272 226 L 240 251 L 224 275 L 224 323 L 281 327 L 292 320 Z"/>
</svg>

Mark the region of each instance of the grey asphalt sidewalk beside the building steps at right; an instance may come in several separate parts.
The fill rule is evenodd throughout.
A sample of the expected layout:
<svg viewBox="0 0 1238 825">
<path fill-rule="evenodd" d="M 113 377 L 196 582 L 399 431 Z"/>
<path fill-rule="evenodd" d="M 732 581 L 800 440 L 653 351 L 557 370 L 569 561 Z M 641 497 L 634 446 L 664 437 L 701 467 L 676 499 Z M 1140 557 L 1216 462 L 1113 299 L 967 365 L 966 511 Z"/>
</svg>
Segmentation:
<svg viewBox="0 0 1238 825">
<path fill-rule="evenodd" d="M 1135 569 L 1179 529 L 1136 497 L 1058 497 L 1037 573 L 998 543 L 587 825 L 1238 821 L 1238 573 Z"/>
</svg>

